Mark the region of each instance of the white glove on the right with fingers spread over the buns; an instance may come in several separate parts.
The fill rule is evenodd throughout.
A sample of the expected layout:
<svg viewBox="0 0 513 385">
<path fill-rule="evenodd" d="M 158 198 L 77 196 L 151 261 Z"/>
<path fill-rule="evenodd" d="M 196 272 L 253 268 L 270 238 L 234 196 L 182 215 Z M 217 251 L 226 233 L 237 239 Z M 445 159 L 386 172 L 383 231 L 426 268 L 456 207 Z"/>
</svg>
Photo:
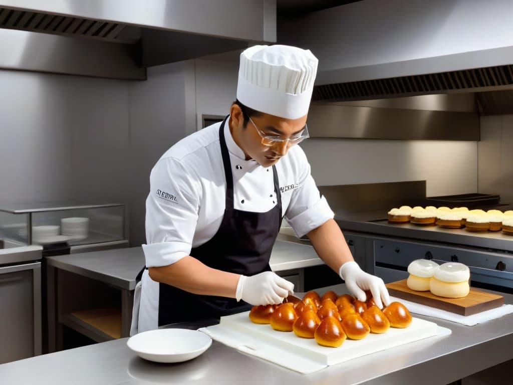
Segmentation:
<svg viewBox="0 0 513 385">
<path fill-rule="evenodd" d="M 374 302 L 382 309 L 383 305 L 390 304 L 388 290 L 383 280 L 379 277 L 365 273 L 358 263 L 346 262 L 340 267 L 340 277 L 345 281 L 349 292 L 360 301 L 366 300 L 364 290 L 370 290 Z"/>
</svg>

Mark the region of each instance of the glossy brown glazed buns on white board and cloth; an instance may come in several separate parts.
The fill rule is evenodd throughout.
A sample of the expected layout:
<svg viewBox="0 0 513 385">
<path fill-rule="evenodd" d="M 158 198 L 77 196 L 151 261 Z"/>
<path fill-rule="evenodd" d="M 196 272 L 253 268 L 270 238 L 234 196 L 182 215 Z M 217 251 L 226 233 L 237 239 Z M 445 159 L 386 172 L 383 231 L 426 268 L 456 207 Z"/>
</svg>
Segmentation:
<svg viewBox="0 0 513 385">
<path fill-rule="evenodd" d="M 400 302 L 379 309 L 369 293 L 362 302 L 333 291 L 322 296 L 310 291 L 302 299 L 289 296 L 280 305 L 221 317 L 205 332 L 245 353 L 308 373 L 312 362 L 325 367 L 435 336 L 441 329 L 412 317 Z"/>
</svg>

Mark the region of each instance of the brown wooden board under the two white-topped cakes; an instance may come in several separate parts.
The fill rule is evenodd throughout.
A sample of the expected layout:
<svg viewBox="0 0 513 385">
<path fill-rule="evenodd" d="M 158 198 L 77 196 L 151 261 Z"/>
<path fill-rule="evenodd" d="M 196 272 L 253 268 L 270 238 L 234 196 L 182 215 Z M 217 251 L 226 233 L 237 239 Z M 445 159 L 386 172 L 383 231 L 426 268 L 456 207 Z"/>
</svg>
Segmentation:
<svg viewBox="0 0 513 385">
<path fill-rule="evenodd" d="M 444 298 L 431 294 L 431 292 L 417 292 L 406 285 L 406 279 L 387 283 L 386 287 L 391 296 L 462 316 L 481 313 L 504 304 L 503 296 L 483 292 L 475 287 L 470 287 L 470 292 L 463 298 Z"/>
</svg>

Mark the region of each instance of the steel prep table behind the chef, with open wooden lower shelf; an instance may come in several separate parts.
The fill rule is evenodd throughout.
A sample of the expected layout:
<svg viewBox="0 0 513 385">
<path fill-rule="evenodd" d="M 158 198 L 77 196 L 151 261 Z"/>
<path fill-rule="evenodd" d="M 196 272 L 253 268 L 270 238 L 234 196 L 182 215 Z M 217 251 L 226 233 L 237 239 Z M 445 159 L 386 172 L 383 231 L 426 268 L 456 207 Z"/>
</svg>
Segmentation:
<svg viewBox="0 0 513 385">
<path fill-rule="evenodd" d="M 111 339 L 108 335 L 90 328 L 81 320 L 70 316 L 65 302 L 74 297 L 58 275 L 61 272 L 75 273 L 81 277 L 108 284 L 121 291 L 121 337 L 128 337 L 132 316 L 133 290 L 135 276 L 144 266 L 142 247 L 131 247 L 106 250 L 100 252 L 81 253 L 47 257 L 48 278 L 48 350 L 55 352 L 62 349 L 62 323 L 81 332 L 97 342 Z M 301 276 L 301 269 L 308 266 L 321 265 L 324 262 L 317 256 L 312 246 L 292 242 L 276 241 L 271 254 L 270 266 L 275 272 L 286 276 L 292 274 Z M 297 272 L 300 273 L 297 273 Z M 64 273 L 66 274 L 66 273 Z M 73 286 L 76 286 L 73 284 Z M 302 290 L 301 287 L 296 291 Z M 76 292 L 75 292 L 76 293 Z M 67 300 L 63 299 L 68 297 Z M 71 298 L 70 298 L 71 297 Z"/>
</svg>

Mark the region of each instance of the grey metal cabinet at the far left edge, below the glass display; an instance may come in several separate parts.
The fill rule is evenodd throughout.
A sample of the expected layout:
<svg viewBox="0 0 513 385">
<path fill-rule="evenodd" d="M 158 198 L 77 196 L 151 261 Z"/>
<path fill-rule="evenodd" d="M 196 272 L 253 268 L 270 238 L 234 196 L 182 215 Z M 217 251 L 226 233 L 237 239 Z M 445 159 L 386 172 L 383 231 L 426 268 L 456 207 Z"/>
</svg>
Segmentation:
<svg viewBox="0 0 513 385">
<path fill-rule="evenodd" d="M 41 354 L 41 262 L 0 267 L 0 363 Z"/>
</svg>

